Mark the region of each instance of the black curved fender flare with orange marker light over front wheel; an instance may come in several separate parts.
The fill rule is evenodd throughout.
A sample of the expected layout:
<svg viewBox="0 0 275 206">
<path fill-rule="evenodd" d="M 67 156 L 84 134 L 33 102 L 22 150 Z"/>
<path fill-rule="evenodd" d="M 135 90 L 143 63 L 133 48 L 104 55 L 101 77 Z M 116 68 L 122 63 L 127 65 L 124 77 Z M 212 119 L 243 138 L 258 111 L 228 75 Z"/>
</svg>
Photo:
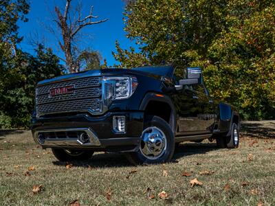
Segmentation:
<svg viewBox="0 0 275 206">
<path fill-rule="evenodd" d="M 177 112 L 172 100 L 167 95 L 164 95 L 161 93 L 149 92 L 149 93 L 146 93 L 146 95 L 144 95 L 144 98 L 140 104 L 140 110 L 145 111 L 146 106 L 150 101 L 165 102 L 170 106 L 171 113 L 170 113 L 170 119 L 168 124 L 172 128 L 172 131 L 175 135 L 176 127 L 177 127 Z"/>
</svg>

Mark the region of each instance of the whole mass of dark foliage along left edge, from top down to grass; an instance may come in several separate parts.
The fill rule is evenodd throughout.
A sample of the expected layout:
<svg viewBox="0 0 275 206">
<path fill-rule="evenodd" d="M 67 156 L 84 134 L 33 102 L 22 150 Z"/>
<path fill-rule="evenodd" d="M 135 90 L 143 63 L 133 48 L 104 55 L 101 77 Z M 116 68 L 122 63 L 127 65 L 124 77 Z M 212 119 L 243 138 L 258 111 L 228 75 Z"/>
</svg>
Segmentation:
<svg viewBox="0 0 275 206">
<path fill-rule="evenodd" d="M 22 40 L 17 21 L 28 21 L 28 10 L 26 0 L 0 2 L 0 128 L 28 127 L 36 83 L 63 69 L 51 49 L 39 45 L 32 56 L 17 48 Z"/>
</svg>

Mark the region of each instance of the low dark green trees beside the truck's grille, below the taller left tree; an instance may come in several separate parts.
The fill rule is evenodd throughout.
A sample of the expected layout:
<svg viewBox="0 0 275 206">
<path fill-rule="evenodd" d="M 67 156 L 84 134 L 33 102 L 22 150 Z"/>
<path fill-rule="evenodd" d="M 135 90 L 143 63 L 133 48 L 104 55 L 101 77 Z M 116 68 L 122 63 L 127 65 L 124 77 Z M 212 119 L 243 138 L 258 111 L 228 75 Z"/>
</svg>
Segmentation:
<svg viewBox="0 0 275 206">
<path fill-rule="evenodd" d="M 7 60 L 6 68 L 0 67 L 5 74 L 0 87 L 0 128 L 28 127 L 36 83 L 61 75 L 63 67 L 51 49 L 40 45 L 36 53 L 34 57 L 18 50 L 17 56 Z"/>
</svg>

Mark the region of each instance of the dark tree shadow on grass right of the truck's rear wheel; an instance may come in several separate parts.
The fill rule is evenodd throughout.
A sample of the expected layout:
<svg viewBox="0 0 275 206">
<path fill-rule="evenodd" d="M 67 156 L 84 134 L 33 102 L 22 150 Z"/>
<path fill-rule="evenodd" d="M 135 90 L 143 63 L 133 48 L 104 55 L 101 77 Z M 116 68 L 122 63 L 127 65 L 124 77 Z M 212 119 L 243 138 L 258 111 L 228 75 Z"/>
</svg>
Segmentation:
<svg viewBox="0 0 275 206">
<path fill-rule="evenodd" d="M 274 122 L 243 122 L 241 123 L 241 133 L 249 137 L 275 138 Z"/>
</svg>

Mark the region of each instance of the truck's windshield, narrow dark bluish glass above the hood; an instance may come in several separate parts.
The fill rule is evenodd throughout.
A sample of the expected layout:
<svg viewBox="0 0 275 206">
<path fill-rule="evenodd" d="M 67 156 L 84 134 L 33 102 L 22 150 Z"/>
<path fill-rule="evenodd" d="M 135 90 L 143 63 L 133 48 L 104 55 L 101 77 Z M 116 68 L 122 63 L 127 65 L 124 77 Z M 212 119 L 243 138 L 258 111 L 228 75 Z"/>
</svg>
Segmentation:
<svg viewBox="0 0 275 206">
<path fill-rule="evenodd" d="M 159 76 L 172 77 L 173 67 L 172 66 L 155 66 L 155 67 L 137 67 L 134 68 L 135 71 L 144 71 L 148 73 L 157 74 Z"/>
</svg>

